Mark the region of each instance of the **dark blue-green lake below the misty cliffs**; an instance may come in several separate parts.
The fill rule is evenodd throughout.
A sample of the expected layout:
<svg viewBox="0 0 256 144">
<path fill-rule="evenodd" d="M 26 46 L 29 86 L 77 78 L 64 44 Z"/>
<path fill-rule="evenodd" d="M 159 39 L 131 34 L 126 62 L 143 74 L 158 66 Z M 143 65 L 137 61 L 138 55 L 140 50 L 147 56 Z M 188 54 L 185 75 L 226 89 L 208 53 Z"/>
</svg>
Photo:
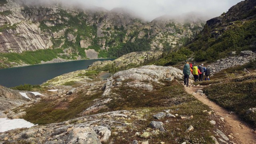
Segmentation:
<svg viewBox="0 0 256 144">
<path fill-rule="evenodd" d="M 99 60 L 105 61 L 114 59 Z M 96 61 L 98 60 L 78 60 L 2 69 L 0 70 L 0 85 L 14 87 L 20 84 L 42 84 L 56 76 L 66 74 L 68 72 L 74 72 L 76 70 L 86 69 L 90 64 Z"/>
</svg>

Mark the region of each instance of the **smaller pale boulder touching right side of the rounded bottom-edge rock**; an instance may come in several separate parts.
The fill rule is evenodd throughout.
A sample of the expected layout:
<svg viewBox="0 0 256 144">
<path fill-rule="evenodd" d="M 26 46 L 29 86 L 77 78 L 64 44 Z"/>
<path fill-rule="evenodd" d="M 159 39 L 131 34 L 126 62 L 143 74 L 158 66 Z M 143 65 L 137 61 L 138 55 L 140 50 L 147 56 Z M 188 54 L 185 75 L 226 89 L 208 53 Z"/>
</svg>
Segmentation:
<svg viewBox="0 0 256 144">
<path fill-rule="evenodd" d="M 111 136 L 111 131 L 105 126 L 96 126 L 92 129 L 98 135 L 100 142 L 106 142 Z"/>
</svg>

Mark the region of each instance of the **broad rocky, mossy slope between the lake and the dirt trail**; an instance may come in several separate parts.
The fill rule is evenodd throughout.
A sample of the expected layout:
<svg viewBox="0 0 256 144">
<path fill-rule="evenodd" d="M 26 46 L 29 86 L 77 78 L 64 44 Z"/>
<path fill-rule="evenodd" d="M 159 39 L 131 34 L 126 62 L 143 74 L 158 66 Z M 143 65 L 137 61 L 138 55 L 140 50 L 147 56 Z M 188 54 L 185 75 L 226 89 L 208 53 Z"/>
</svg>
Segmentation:
<svg viewBox="0 0 256 144">
<path fill-rule="evenodd" d="M 184 91 L 176 81 L 181 79 L 177 68 L 142 66 L 76 90 L 54 86 L 58 91 L 50 97 L 12 110 L 25 109 L 24 118 L 40 126 L 10 130 L 0 138 L 46 144 L 236 142 L 209 107 Z"/>
</svg>

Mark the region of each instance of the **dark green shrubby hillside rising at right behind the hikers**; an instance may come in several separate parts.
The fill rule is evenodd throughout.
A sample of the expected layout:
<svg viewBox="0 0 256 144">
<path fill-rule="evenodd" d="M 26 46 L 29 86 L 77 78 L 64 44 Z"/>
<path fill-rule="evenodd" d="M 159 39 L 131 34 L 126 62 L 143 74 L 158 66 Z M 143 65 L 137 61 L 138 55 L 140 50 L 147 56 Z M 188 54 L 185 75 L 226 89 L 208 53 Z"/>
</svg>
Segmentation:
<svg viewBox="0 0 256 144">
<path fill-rule="evenodd" d="M 174 65 L 189 62 L 212 63 L 230 56 L 238 57 L 242 51 L 256 51 L 256 2 L 245 0 L 232 6 L 228 12 L 206 22 L 194 39 L 176 52 L 166 52 L 156 65 Z"/>
</svg>

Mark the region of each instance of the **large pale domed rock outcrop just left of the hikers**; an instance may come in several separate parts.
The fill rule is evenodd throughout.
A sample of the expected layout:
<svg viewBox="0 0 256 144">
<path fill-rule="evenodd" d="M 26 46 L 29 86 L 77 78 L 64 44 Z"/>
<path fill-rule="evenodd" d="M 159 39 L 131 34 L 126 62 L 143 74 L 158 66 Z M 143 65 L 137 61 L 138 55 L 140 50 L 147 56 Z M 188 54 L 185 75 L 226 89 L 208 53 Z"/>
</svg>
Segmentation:
<svg viewBox="0 0 256 144">
<path fill-rule="evenodd" d="M 153 90 L 153 86 L 150 82 L 161 83 L 160 80 L 166 80 L 172 76 L 177 79 L 182 79 L 182 71 L 174 67 L 154 65 L 120 71 L 108 79 L 102 96 L 110 96 L 112 88 L 120 85 L 151 91 Z M 127 80 L 129 80 L 129 82 L 122 83 Z"/>
</svg>

